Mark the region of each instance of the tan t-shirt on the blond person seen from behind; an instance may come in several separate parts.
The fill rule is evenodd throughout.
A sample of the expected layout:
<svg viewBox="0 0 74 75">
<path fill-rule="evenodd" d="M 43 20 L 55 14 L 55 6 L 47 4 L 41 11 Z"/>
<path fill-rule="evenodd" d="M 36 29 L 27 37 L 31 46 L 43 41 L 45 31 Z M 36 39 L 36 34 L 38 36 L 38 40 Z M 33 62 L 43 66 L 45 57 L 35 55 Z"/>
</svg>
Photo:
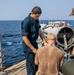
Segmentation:
<svg viewBox="0 0 74 75">
<path fill-rule="evenodd" d="M 63 52 L 55 46 L 44 46 L 38 49 L 35 60 L 39 63 L 36 75 L 58 75 Z"/>
</svg>

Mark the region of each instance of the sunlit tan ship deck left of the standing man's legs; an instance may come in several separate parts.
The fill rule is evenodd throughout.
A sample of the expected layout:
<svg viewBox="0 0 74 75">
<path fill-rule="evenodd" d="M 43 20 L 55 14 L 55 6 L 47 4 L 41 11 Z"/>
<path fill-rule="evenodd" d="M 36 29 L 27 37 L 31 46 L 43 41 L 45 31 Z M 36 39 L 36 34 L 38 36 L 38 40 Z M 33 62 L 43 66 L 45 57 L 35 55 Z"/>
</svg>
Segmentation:
<svg viewBox="0 0 74 75">
<path fill-rule="evenodd" d="M 27 75 L 26 60 L 22 60 L 0 72 L 0 75 Z"/>
</svg>

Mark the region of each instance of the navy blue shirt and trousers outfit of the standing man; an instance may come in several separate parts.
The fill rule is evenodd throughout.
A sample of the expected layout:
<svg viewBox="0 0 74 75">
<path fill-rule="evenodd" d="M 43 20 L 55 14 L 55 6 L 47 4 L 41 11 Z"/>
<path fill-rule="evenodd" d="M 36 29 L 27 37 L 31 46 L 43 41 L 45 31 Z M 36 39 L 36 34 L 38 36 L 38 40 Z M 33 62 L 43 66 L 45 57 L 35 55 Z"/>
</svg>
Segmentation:
<svg viewBox="0 0 74 75">
<path fill-rule="evenodd" d="M 39 20 L 34 21 L 32 17 L 29 16 L 26 17 L 21 24 L 21 30 L 22 30 L 22 36 L 26 36 L 31 42 L 31 44 L 34 46 L 34 48 L 38 49 L 38 45 L 36 43 L 36 40 L 39 35 Z M 37 67 L 34 64 L 34 58 L 35 54 L 32 52 L 32 50 L 25 44 L 23 41 L 23 51 L 26 54 L 26 68 L 27 68 L 27 75 L 35 75 L 37 71 Z"/>
</svg>

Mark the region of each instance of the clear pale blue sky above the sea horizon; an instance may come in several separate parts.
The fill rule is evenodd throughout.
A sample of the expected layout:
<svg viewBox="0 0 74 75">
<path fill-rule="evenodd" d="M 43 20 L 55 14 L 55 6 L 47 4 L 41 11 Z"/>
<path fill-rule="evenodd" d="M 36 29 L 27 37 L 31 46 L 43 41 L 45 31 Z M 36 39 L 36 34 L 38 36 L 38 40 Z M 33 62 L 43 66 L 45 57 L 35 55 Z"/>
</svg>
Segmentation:
<svg viewBox="0 0 74 75">
<path fill-rule="evenodd" d="M 0 20 L 23 20 L 34 6 L 42 9 L 40 20 L 74 20 L 74 0 L 0 0 Z"/>
</svg>

